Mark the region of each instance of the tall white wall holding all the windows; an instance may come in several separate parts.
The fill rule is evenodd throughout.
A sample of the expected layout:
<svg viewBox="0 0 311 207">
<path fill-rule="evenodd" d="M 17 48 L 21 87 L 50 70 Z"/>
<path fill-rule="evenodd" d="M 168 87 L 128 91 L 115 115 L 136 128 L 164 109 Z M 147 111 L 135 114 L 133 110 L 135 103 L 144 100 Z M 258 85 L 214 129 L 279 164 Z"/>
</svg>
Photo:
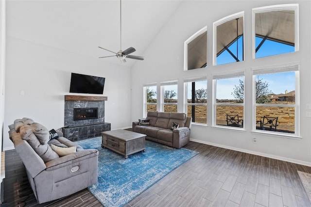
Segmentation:
<svg viewBox="0 0 311 207">
<path fill-rule="evenodd" d="M 299 51 L 274 57 L 252 59 L 252 8 L 299 3 Z M 225 6 L 224 6 L 225 5 Z M 145 61 L 132 67 L 132 119 L 143 114 L 143 84 L 166 80 L 178 80 L 178 99 L 183 100 L 183 80 L 189 77 L 207 75 L 208 80 L 208 126 L 192 126 L 191 139 L 201 143 L 223 146 L 240 151 L 264 155 L 277 159 L 311 165 L 311 118 L 305 117 L 305 106 L 311 103 L 311 40 L 310 1 L 184 1 L 172 18 L 145 51 Z M 300 63 L 300 136 L 289 139 L 252 133 L 251 121 L 245 123 L 245 131 L 226 130 L 211 127 L 212 123 L 212 74 L 232 70 L 232 64 L 212 66 L 213 22 L 244 11 L 245 42 L 243 62 L 234 63 L 235 69 L 245 70 L 245 117 L 252 120 L 252 67 L 275 64 Z M 183 71 L 184 41 L 207 26 L 207 68 Z M 159 87 L 158 87 L 159 88 Z M 178 111 L 183 112 L 179 101 Z M 257 143 L 253 143 L 253 137 Z"/>
</svg>

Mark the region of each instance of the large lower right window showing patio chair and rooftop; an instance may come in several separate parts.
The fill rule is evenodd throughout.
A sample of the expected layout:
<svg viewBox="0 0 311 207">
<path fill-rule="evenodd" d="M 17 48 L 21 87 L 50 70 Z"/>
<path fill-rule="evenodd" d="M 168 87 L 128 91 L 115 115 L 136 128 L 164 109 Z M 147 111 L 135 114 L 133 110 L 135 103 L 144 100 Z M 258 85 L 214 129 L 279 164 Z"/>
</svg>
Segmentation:
<svg viewBox="0 0 311 207">
<path fill-rule="evenodd" d="M 298 64 L 254 69 L 254 129 L 298 134 Z"/>
</svg>

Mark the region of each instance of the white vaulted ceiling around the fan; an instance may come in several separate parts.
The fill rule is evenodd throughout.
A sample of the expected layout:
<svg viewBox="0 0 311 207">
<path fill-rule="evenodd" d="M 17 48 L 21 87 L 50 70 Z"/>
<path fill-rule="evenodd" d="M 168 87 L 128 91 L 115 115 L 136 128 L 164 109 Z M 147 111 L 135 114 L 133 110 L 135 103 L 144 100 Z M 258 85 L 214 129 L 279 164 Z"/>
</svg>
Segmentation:
<svg viewBox="0 0 311 207">
<path fill-rule="evenodd" d="M 122 50 L 144 50 L 182 1 L 122 0 Z M 88 57 L 120 50 L 120 0 L 22 0 L 6 3 L 8 37 Z M 148 58 L 148 57 L 146 57 Z M 115 57 L 102 61 L 120 63 Z M 131 66 L 138 60 L 127 59 Z"/>
</svg>

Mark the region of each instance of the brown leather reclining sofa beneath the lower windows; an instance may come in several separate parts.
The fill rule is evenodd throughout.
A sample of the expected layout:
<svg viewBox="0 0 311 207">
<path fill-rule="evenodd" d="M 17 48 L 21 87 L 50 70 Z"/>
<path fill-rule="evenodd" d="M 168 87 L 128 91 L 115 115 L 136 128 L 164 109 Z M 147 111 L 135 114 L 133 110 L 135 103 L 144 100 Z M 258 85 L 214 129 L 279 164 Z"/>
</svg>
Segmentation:
<svg viewBox="0 0 311 207">
<path fill-rule="evenodd" d="M 146 134 L 147 140 L 178 149 L 189 143 L 192 118 L 185 113 L 148 111 L 146 120 L 150 120 L 149 125 L 139 125 L 136 121 L 132 128 L 135 132 Z M 173 123 L 179 127 L 172 130 Z"/>
</svg>

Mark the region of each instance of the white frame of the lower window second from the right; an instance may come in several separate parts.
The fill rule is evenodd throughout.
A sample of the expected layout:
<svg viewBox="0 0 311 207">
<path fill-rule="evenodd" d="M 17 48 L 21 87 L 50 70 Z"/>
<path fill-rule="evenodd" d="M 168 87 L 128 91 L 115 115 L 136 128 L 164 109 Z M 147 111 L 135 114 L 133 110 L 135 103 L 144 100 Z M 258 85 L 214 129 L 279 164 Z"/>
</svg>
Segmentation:
<svg viewBox="0 0 311 207">
<path fill-rule="evenodd" d="M 216 92 L 217 92 L 217 80 L 219 79 L 229 79 L 229 78 L 238 78 L 243 77 L 244 83 L 244 98 L 243 103 L 217 103 L 216 99 Z M 218 128 L 227 128 L 232 130 L 245 130 L 245 125 L 243 127 L 231 127 L 231 126 L 223 126 L 223 125 L 216 125 L 217 119 L 217 106 L 243 106 L 243 122 L 245 123 L 245 71 L 235 71 L 231 73 L 220 73 L 220 74 L 213 74 L 213 115 L 212 115 L 212 127 Z"/>
</svg>

